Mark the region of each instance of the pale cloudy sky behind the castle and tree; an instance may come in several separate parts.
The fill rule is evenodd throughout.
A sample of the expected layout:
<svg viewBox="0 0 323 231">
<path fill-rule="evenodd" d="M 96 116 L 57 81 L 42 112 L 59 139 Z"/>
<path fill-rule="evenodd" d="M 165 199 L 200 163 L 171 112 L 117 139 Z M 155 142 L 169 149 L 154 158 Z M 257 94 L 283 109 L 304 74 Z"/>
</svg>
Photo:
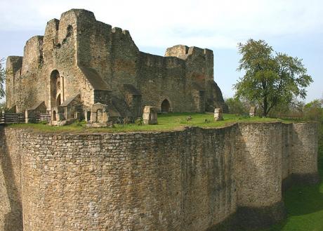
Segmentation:
<svg viewBox="0 0 323 231">
<path fill-rule="evenodd" d="M 164 55 L 169 46 L 210 48 L 215 80 L 225 97 L 234 94 L 237 43 L 265 39 L 275 51 L 303 58 L 314 83 L 306 101 L 323 97 L 323 1 L 84 1 L 0 0 L 0 57 L 22 55 L 29 37 L 70 8 L 93 11 L 102 22 L 128 29 L 140 51 Z"/>
</svg>

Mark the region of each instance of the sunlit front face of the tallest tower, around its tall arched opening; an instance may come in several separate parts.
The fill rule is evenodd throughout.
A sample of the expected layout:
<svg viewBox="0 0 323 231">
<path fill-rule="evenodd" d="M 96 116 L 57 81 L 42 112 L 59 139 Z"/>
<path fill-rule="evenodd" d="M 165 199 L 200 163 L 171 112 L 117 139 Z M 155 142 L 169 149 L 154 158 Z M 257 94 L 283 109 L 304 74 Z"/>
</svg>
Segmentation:
<svg viewBox="0 0 323 231">
<path fill-rule="evenodd" d="M 71 10 L 63 13 L 60 20 L 51 20 L 47 23 L 44 36 L 44 61 L 46 62 L 42 68 L 41 76 L 47 84 L 47 92 L 49 91 L 51 72 L 58 70 L 60 76 L 63 77 L 64 99 L 81 95 L 81 101 L 84 105 L 93 103 L 93 86 L 86 80 L 84 73 L 77 66 L 77 31 L 79 18 L 87 20 L 82 13 L 91 14 L 90 12 Z M 93 15 L 93 13 L 92 13 Z M 93 15 L 94 17 L 94 15 Z M 91 56 L 90 56 L 91 58 Z M 44 94 L 44 91 L 42 91 Z M 46 95 L 49 95 L 47 93 Z M 49 107 L 50 99 L 46 100 Z"/>
</svg>

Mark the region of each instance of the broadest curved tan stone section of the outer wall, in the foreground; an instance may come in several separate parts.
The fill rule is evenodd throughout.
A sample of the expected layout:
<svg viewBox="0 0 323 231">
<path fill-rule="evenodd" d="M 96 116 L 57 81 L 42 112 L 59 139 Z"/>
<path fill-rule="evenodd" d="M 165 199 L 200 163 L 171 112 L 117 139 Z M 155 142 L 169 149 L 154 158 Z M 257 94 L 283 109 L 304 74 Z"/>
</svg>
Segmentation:
<svg viewBox="0 0 323 231">
<path fill-rule="evenodd" d="M 21 140 L 6 145 L 24 140 L 24 230 L 206 230 L 235 213 L 235 126 L 93 135 L 19 132 Z"/>
</svg>

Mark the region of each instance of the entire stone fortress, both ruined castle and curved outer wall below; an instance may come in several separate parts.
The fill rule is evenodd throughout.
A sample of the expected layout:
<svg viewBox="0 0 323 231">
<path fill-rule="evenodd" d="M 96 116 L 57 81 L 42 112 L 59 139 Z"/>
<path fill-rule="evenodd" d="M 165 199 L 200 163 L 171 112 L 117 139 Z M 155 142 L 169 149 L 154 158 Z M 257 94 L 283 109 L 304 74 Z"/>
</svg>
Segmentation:
<svg viewBox="0 0 323 231">
<path fill-rule="evenodd" d="M 6 105 L 53 124 L 227 110 L 213 53 L 138 51 L 128 31 L 71 10 L 7 59 Z M 216 110 L 214 109 L 216 107 Z M 144 112 L 144 114 L 143 114 Z M 253 114 L 255 113 L 253 108 Z M 131 133 L 0 126 L 0 231 L 211 231 L 267 227 L 282 192 L 317 183 L 315 123 L 237 123 Z"/>
</svg>

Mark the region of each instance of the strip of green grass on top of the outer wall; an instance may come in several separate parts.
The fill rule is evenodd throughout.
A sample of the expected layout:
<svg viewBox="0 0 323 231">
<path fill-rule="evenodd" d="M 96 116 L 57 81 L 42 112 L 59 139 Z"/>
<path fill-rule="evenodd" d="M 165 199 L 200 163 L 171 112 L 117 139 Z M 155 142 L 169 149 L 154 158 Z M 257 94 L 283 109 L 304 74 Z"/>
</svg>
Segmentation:
<svg viewBox="0 0 323 231">
<path fill-rule="evenodd" d="M 187 121 L 187 117 L 192 117 Z M 213 113 L 169 113 L 159 114 L 158 124 L 136 125 L 136 124 L 114 124 L 114 128 L 86 128 L 84 124 L 74 123 L 68 126 L 48 126 L 46 124 L 11 124 L 12 128 L 32 128 L 44 132 L 72 132 L 72 133 L 93 133 L 93 132 L 131 132 L 131 131 L 176 131 L 187 126 L 199 126 L 202 128 L 213 128 L 228 126 L 236 122 L 274 122 L 281 119 L 244 117 L 235 114 L 224 114 L 223 121 L 214 121 Z"/>
</svg>

